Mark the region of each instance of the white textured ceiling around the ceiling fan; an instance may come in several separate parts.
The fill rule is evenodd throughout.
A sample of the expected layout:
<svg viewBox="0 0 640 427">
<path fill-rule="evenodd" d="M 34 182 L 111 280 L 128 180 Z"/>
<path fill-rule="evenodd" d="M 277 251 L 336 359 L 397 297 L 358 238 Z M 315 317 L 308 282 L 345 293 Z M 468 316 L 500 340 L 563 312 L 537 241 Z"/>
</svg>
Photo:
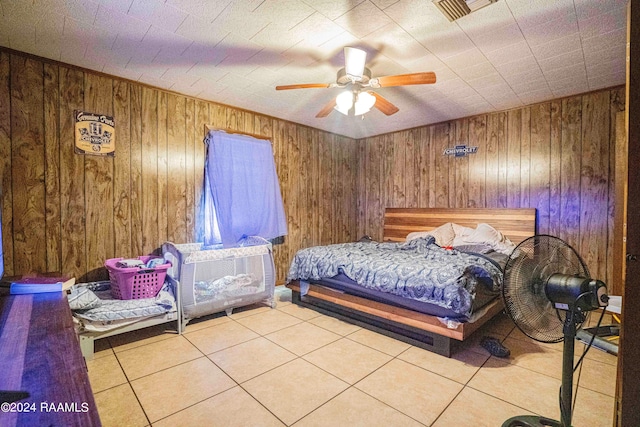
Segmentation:
<svg viewBox="0 0 640 427">
<path fill-rule="evenodd" d="M 431 0 L 0 0 L 0 45 L 353 138 L 625 82 L 626 0 L 498 0 L 449 22 Z M 373 76 L 435 71 L 377 91 L 400 108 L 316 113 L 343 47 Z"/>
</svg>

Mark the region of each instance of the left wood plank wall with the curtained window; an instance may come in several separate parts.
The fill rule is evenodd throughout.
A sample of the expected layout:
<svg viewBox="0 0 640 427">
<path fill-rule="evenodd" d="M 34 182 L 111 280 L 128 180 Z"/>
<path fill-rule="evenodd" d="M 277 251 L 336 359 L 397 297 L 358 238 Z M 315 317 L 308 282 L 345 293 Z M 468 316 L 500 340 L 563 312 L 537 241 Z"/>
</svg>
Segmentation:
<svg viewBox="0 0 640 427">
<path fill-rule="evenodd" d="M 74 153 L 75 109 L 114 116 L 114 158 Z M 273 142 L 289 226 L 279 281 L 299 248 L 356 238 L 354 140 L 0 50 L 5 274 L 95 280 L 105 259 L 194 241 L 205 124 Z"/>
</svg>

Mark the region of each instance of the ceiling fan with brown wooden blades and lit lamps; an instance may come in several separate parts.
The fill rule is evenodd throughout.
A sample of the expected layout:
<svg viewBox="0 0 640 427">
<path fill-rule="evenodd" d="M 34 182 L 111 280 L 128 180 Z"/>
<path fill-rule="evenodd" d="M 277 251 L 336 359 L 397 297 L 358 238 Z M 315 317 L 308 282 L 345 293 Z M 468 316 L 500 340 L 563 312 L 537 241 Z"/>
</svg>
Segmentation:
<svg viewBox="0 0 640 427">
<path fill-rule="evenodd" d="M 436 82 L 434 72 L 398 74 L 384 77 L 371 77 L 371 70 L 365 66 L 367 52 L 354 47 L 344 48 L 345 66 L 338 70 L 335 83 L 302 83 L 276 86 L 276 90 L 310 88 L 344 88 L 337 97 L 328 102 L 316 117 L 327 117 L 334 109 L 345 115 L 359 116 L 377 108 L 390 116 L 398 112 L 398 107 L 382 95 L 370 90 L 381 87 L 432 84 Z"/>
</svg>

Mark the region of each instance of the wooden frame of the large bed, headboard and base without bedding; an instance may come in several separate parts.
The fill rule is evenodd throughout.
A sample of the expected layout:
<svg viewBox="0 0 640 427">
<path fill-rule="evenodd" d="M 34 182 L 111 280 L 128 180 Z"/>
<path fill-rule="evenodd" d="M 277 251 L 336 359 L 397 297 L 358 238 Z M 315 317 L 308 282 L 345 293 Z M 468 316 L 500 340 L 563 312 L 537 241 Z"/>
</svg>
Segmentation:
<svg viewBox="0 0 640 427">
<path fill-rule="evenodd" d="M 410 232 L 430 231 L 447 222 L 473 228 L 479 223 L 487 223 L 515 244 L 536 234 L 535 209 L 387 208 L 384 240 L 402 242 Z M 287 284 L 295 304 L 447 357 L 451 356 L 456 342 L 464 341 L 503 309 L 502 300 L 498 298 L 485 307 L 484 313 L 474 322 L 448 328 L 435 316 L 335 291 L 312 281 L 302 295 L 301 286 L 306 287 L 297 280 Z"/>
</svg>

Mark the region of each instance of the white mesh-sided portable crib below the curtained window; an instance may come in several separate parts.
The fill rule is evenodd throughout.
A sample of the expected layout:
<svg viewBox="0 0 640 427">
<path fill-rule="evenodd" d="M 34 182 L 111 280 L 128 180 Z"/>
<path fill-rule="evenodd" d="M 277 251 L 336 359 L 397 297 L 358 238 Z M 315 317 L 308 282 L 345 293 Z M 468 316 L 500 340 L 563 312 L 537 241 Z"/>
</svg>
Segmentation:
<svg viewBox="0 0 640 427">
<path fill-rule="evenodd" d="M 203 249 L 202 243 L 162 245 L 171 262 L 167 275 L 178 282 L 181 329 L 191 319 L 265 302 L 275 306 L 275 266 L 271 243 Z"/>
</svg>

